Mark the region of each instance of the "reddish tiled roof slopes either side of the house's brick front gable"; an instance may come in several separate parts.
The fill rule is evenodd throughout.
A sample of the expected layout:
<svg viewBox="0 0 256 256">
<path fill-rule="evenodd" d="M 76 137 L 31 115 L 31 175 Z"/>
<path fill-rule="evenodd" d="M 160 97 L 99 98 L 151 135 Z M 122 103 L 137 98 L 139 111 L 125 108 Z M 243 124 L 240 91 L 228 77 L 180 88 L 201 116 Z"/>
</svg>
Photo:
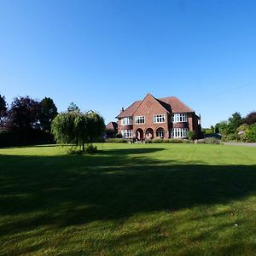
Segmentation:
<svg viewBox="0 0 256 256">
<path fill-rule="evenodd" d="M 154 96 L 153 96 L 154 97 Z M 164 98 L 154 98 L 157 102 L 160 103 L 160 105 L 166 109 L 169 113 L 191 113 L 194 112 L 193 109 L 189 108 L 185 103 L 180 101 L 177 97 L 171 96 L 171 97 L 164 97 Z M 132 116 L 132 114 L 137 110 L 139 105 L 143 101 L 137 101 L 132 103 L 128 108 L 126 108 L 123 112 L 119 113 L 119 115 L 116 117 L 117 119 L 123 118 L 123 117 L 129 117 Z"/>
</svg>

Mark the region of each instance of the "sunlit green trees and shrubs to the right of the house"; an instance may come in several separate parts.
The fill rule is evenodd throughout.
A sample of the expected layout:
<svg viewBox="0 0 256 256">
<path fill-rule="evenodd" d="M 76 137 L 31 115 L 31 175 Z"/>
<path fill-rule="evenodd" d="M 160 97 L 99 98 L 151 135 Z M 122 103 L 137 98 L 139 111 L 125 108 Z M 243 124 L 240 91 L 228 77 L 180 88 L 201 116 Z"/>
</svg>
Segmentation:
<svg viewBox="0 0 256 256">
<path fill-rule="evenodd" d="M 246 117 L 233 113 L 228 120 L 216 124 L 214 131 L 220 133 L 224 141 L 256 143 L 256 112 L 248 113 Z"/>
</svg>

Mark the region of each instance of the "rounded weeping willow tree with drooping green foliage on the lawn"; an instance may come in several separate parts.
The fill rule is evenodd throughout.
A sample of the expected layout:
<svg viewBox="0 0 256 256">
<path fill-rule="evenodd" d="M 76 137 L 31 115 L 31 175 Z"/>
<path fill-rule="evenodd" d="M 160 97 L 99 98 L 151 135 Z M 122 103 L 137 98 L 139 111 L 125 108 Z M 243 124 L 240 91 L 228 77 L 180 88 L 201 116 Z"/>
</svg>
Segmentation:
<svg viewBox="0 0 256 256">
<path fill-rule="evenodd" d="M 51 124 L 51 131 L 58 144 L 73 144 L 85 151 L 85 144 L 94 143 L 105 130 L 104 119 L 99 113 L 77 111 L 59 113 Z"/>
</svg>

